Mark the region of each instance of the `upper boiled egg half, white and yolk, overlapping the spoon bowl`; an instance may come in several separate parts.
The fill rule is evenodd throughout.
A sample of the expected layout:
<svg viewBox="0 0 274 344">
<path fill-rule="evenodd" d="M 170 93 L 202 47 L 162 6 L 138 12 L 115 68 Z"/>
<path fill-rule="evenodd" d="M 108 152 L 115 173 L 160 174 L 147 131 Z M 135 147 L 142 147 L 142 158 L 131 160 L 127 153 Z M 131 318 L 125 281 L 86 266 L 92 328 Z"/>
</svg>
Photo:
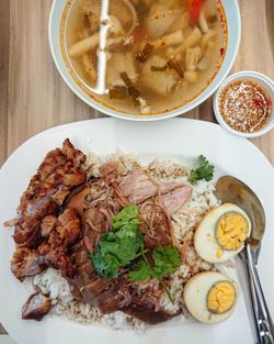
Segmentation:
<svg viewBox="0 0 274 344">
<path fill-rule="evenodd" d="M 206 262 L 221 263 L 235 257 L 251 233 L 247 213 L 236 204 L 224 203 L 203 218 L 194 235 L 194 247 Z"/>
</svg>

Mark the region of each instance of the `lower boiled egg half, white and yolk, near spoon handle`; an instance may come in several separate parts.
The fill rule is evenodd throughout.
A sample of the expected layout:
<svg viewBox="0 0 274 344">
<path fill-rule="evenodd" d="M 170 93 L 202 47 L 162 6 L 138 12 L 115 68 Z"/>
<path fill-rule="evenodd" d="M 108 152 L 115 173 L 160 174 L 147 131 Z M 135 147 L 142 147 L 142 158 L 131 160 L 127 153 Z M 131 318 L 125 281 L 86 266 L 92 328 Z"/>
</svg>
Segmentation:
<svg viewBox="0 0 274 344">
<path fill-rule="evenodd" d="M 195 319 L 214 324 L 231 315 L 238 289 L 236 282 L 226 275 L 205 271 L 187 280 L 183 296 L 186 308 Z"/>
</svg>

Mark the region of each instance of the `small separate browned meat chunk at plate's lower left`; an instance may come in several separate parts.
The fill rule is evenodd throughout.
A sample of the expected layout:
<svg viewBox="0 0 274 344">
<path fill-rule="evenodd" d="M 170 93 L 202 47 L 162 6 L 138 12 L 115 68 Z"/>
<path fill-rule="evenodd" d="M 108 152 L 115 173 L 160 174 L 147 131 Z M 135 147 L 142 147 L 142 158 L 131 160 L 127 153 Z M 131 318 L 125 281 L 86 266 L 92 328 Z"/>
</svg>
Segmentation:
<svg viewBox="0 0 274 344">
<path fill-rule="evenodd" d="M 41 321 L 52 308 L 52 300 L 41 292 L 33 293 L 22 308 L 22 319 Z"/>
</svg>

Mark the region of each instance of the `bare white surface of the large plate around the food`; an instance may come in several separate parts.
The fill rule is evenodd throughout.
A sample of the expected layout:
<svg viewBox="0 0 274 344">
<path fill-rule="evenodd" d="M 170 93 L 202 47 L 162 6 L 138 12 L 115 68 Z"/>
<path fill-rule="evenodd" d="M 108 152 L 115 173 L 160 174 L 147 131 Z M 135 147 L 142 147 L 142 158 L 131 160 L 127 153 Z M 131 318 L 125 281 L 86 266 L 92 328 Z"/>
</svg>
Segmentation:
<svg viewBox="0 0 274 344">
<path fill-rule="evenodd" d="M 0 322 L 19 344 L 90 344 L 90 343 L 151 343 L 201 344 L 254 343 L 246 291 L 241 286 L 239 303 L 232 317 L 218 325 L 203 325 L 194 320 L 172 321 L 151 328 L 145 334 L 113 331 L 105 325 L 81 325 L 66 319 L 46 317 L 41 323 L 21 320 L 21 308 L 31 292 L 31 286 L 20 284 L 10 271 L 14 249 L 12 231 L 2 222 L 15 214 L 19 198 L 45 154 L 69 137 L 83 152 L 107 154 L 116 148 L 137 153 L 141 158 L 171 157 L 192 162 L 204 154 L 218 173 L 225 171 L 247 182 L 264 203 L 267 228 L 260 257 L 260 274 L 274 311 L 274 171 L 263 154 L 250 142 L 233 137 L 219 125 L 174 119 L 158 123 L 133 123 L 103 119 L 54 127 L 25 142 L 0 171 Z M 239 276 L 240 280 L 243 279 Z"/>
</svg>

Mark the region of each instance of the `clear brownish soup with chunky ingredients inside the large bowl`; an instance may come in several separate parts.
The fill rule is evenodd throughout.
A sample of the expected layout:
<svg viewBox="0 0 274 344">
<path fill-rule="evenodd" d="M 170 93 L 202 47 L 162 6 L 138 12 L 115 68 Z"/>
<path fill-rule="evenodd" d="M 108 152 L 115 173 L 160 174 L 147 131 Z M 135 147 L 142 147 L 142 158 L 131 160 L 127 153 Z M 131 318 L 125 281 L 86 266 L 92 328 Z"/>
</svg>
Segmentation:
<svg viewBox="0 0 274 344">
<path fill-rule="evenodd" d="M 75 0 L 61 25 L 73 78 L 96 101 L 129 114 L 193 100 L 214 79 L 226 43 L 218 0 Z"/>
</svg>

